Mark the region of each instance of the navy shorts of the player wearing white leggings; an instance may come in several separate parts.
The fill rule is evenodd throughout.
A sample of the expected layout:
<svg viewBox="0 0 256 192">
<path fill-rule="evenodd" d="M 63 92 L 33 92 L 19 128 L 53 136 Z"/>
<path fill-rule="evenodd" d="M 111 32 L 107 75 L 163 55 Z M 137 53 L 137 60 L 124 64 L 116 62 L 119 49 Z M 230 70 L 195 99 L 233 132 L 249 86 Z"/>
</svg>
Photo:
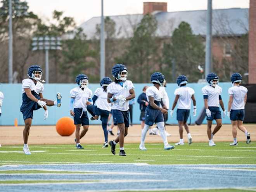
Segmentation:
<svg viewBox="0 0 256 192">
<path fill-rule="evenodd" d="M 163 113 L 158 109 L 146 108 L 145 111 L 145 124 L 152 126 L 154 123 L 164 122 Z"/>
</svg>

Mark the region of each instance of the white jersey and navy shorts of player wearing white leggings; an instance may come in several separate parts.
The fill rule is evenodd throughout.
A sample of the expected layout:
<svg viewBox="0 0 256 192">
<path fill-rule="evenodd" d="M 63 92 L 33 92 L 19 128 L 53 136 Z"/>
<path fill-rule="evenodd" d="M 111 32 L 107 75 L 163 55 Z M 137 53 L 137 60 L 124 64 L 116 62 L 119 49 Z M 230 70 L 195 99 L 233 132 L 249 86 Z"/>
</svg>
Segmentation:
<svg viewBox="0 0 256 192">
<path fill-rule="evenodd" d="M 149 97 L 153 97 L 154 103 L 160 107 L 160 102 L 162 100 L 162 94 L 156 88 L 156 86 L 150 86 L 149 88 L 147 88 L 146 96 L 147 96 L 148 102 L 149 102 Z M 149 104 L 145 111 L 145 124 L 152 126 L 154 123 L 158 123 L 158 122 L 164 122 L 163 113 L 158 109 L 154 109 Z"/>
</svg>

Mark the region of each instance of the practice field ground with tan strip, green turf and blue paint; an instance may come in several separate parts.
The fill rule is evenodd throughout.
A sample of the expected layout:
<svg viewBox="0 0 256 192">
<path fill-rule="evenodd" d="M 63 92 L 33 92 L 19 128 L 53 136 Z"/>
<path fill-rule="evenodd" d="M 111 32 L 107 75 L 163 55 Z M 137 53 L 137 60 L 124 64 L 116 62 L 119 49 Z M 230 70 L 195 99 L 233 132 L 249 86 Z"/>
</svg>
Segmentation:
<svg viewBox="0 0 256 192">
<path fill-rule="evenodd" d="M 209 147 L 206 126 L 190 126 L 193 143 L 163 150 L 161 137 L 147 135 L 147 151 L 138 149 L 140 126 L 129 128 L 125 151 L 120 157 L 110 147 L 102 149 L 103 131 L 91 126 L 76 149 L 74 135 L 59 136 L 54 126 L 32 126 L 29 148 L 22 151 L 22 127 L 0 127 L 0 191 L 83 192 L 83 191 L 256 191 L 255 125 L 246 125 L 252 142 L 238 131 L 237 146 L 230 125 L 223 125 Z M 178 141 L 178 126 L 167 126 L 170 144 Z M 116 133 L 116 128 L 114 128 Z M 109 137 L 109 140 L 114 137 Z M 225 142 L 223 142 L 225 141 Z M 16 144 L 16 145 L 14 145 Z"/>
</svg>

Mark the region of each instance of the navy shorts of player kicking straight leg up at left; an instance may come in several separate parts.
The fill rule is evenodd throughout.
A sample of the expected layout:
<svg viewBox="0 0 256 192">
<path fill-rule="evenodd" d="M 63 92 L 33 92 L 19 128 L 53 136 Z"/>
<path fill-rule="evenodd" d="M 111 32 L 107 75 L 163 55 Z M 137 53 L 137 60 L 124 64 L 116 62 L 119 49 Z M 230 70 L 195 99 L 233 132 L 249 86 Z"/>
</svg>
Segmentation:
<svg viewBox="0 0 256 192">
<path fill-rule="evenodd" d="M 36 111 L 40 108 L 42 108 L 42 107 L 32 100 L 28 101 L 28 102 L 23 102 L 21 105 L 21 112 L 23 115 L 23 119 L 24 120 L 29 119 L 29 118 L 33 119 L 33 111 Z"/>
</svg>

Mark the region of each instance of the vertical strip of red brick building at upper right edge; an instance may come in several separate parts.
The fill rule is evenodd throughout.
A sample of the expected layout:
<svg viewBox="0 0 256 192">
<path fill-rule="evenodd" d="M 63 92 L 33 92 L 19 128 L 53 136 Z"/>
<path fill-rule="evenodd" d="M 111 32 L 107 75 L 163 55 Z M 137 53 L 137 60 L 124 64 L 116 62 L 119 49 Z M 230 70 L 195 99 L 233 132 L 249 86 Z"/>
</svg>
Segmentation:
<svg viewBox="0 0 256 192">
<path fill-rule="evenodd" d="M 249 7 L 249 83 L 256 84 L 256 0 Z"/>
</svg>

